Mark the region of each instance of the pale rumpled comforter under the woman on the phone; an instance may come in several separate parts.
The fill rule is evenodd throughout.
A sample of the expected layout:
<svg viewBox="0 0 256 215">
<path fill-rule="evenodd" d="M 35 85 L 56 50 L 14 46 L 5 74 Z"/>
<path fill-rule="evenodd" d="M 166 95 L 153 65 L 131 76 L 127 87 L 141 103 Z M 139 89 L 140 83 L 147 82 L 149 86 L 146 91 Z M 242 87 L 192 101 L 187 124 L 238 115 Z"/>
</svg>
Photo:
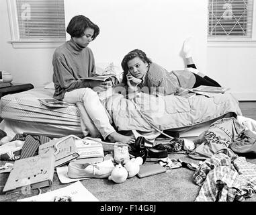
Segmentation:
<svg viewBox="0 0 256 215">
<path fill-rule="evenodd" d="M 144 132 L 194 126 L 228 113 L 242 115 L 239 102 L 230 93 L 184 98 L 175 95 L 156 97 L 146 93 L 134 100 L 116 94 L 103 100 L 118 130 Z M 149 123 L 150 124 L 149 124 Z M 153 124 L 153 126 L 151 126 Z"/>
</svg>

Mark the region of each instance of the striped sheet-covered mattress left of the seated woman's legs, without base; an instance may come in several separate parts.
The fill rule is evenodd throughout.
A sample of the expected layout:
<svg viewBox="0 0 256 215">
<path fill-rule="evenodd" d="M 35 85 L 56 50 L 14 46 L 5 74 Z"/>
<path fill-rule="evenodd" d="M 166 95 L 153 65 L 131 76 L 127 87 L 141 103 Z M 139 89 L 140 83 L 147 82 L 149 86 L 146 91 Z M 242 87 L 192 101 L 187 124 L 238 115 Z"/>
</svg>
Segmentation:
<svg viewBox="0 0 256 215">
<path fill-rule="evenodd" d="M 30 89 L 1 97 L 0 117 L 36 124 L 73 126 L 81 130 L 80 112 L 77 105 L 46 107 L 38 99 L 50 99 L 54 89 Z"/>
</svg>

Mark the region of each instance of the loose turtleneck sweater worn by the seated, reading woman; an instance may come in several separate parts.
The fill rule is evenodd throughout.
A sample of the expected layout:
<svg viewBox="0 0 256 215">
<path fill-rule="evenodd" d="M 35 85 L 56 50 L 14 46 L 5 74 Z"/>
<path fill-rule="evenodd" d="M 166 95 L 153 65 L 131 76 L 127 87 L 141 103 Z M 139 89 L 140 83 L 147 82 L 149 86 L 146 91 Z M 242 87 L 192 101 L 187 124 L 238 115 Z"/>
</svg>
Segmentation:
<svg viewBox="0 0 256 215">
<path fill-rule="evenodd" d="M 79 78 L 95 74 L 95 60 L 90 48 L 78 46 L 73 39 L 56 48 L 52 56 L 55 92 L 53 97 L 62 100 L 67 91 L 89 87 L 87 81 Z"/>
</svg>

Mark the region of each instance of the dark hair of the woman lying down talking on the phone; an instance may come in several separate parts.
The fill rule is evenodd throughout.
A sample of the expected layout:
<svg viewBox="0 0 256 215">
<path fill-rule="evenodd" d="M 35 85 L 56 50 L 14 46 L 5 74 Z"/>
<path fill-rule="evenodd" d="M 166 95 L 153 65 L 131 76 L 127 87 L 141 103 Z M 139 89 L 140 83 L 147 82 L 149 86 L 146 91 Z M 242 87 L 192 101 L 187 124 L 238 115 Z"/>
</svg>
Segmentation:
<svg viewBox="0 0 256 215">
<path fill-rule="evenodd" d="M 124 83 L 125 85 L 127 84 L 126 75 L 128 74 L 128 71 L 129 71 L 127 63 L 129 60 L 132 60 L 133 58 L 136 58 L 136 57 L 140 58 L 140 60 L 142 60 L 143 62 L 147 62 L 148 64 L 152 62 L 152 60 L 146 56 L 146 53 L 139 49 L 134 49 L 130 51 L 128 54 L 126 54 L 126 56 L 124 56 L 121 63 L 122 69 L 124 71 L 123 77 L 122 77 L 122 83 Z"/>
</svg>

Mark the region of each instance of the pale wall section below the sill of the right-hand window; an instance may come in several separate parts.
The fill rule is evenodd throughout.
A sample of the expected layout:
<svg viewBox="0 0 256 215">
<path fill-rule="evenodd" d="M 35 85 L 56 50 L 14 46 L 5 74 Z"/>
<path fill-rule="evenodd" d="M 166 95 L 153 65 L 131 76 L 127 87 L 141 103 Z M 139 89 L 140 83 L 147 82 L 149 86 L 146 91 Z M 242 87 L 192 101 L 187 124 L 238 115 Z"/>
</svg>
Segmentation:
<svg viewBox="0 0 256 215">
<path fill-rule="evenodd" d="M 207 74 L 239 100 L 256 100 L 256 46 L 209 46 Z"/>
</svg>

